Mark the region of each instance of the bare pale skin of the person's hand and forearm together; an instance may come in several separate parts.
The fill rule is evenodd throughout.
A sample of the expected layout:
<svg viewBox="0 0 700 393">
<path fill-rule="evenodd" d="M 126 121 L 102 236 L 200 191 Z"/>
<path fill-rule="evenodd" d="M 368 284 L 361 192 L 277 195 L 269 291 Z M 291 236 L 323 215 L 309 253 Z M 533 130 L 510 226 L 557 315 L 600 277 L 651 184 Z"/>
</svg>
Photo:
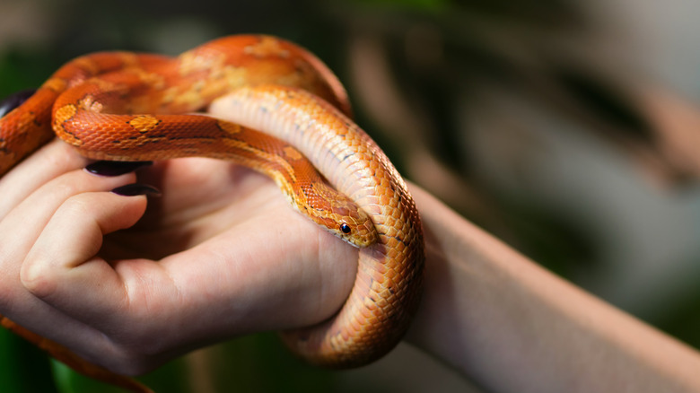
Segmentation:
<svg viewBox="0 0 700 393">
<path fill-rule="evenodd" d="M 112 371 L 311 325 L 354 282 L 356 249 L 257 173 L 186 159 L 108 178 L 86 163 L 55 141 L 0 179 L 0 313 Z M 135 181 L 162 197 L 109 192 Z M 409 343 L 486 390 L 700 391 L 694 350 L 411 189 L 427 267 Z"/>
</svg>

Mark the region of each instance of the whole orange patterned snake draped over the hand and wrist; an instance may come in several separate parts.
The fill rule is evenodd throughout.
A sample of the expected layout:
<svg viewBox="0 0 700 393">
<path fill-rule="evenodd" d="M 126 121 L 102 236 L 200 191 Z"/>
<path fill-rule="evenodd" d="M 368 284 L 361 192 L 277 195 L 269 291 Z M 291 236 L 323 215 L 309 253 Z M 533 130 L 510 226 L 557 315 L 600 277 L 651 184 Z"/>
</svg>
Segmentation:
<svg viewBox="0 0 700 393">
<path fill-rule="evenodd" d="M 235 109 L 235 123 L 186 114 L 212 101 Z M 420 298 L 424 243 L 405 182 L 349 111 L 326 65 L 282 39 L 226 37 L 174 58 L 95 53 L 61 67 L 0 118 L 0 176 L 54 133 L 92 159 L 207 156 L 266 173 L 295 208 L 362 247 L 354 287 L 337 315 L 283 334 L 312 363 L 353 367 L 386 354 L 406 332 Z M 77 371 L 149 391 L 10 319 L 0 322 Z"/>
</svg>

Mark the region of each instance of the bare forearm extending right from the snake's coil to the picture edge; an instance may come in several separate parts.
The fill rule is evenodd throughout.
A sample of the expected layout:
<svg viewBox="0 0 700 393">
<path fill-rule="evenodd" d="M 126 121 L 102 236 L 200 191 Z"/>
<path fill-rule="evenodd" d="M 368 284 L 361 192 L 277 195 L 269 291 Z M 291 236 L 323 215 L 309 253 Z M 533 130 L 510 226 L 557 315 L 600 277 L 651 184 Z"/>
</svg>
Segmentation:
<svg viewBox="0 0 700 393">
<path fill-rule="evenodd" d="M 423 190 L 407 340 L 498 392 L 700 391 L 700 355 L 522 257 Z"/>
</svg>

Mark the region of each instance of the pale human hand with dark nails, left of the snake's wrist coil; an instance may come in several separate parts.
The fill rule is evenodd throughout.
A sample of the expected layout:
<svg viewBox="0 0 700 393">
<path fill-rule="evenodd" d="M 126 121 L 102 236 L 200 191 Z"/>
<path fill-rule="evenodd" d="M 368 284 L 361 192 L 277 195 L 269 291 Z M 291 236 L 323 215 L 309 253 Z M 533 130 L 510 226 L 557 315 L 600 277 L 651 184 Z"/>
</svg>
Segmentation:
<svg viewBox="0 0 700 393">
<path fill-rule="evenodd" d="M 0 313 L 90 362 L 138 374 L 253 331 L 338 310 L 357 250 L 272 181 L 182 159 L 116 177 L 54 141 L 0 179 Z M 158 198 L 109 192 L 134 182 Z"/>
</svg>

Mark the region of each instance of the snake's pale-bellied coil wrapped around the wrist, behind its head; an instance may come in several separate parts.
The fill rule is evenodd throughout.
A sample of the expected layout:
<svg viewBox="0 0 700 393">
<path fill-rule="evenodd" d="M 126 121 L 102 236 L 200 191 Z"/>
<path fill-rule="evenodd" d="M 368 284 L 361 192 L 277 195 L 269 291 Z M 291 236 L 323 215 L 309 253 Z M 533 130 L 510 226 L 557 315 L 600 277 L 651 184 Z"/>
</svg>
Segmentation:
<svg viewBox="0 0 700 393">
<path fill-rule="evenodd" d="M 286 343 L 307 360 L 332 366 L 361 365 L 388 352 L 416 306 L 424 257 L 416 205 L 387 156 L 362 129 L 309 92 L 244 87 L 214 101 L 210 110 L 228 110 L 226 118 L 299 146 L 334 187 L 370 214 L 379 233 L 376 244 L 360 249 L 343 309 L 320 327 L 287 332 Z"/>
</svg>

